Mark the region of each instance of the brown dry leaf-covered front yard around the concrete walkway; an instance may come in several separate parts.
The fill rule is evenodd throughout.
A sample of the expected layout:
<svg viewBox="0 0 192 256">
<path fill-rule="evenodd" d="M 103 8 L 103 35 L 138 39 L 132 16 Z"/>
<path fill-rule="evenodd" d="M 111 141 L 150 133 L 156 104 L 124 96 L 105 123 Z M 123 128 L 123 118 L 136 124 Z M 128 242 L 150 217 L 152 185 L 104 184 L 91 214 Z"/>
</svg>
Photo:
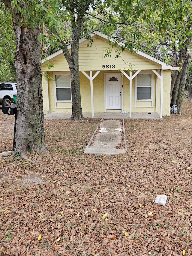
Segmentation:
<svg viewBox="0 0 192 256">
<path fill-rule="evenodd" d="M 45 120 L 50 155 L 0 158 L 0 255 L 192 255 L 191 102 L 184 111 L 125 120 L 120 155 L 83 154 L 100 120 Z M 0 116 L 3 152 L 13 124 Z"/>
</svg>

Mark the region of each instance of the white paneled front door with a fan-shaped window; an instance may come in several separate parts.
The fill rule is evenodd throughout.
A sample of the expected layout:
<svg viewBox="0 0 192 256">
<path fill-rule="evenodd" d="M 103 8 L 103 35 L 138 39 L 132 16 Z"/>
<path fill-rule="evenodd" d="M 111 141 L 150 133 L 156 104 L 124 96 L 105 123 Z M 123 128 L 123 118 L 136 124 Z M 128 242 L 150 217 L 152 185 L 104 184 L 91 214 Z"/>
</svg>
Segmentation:
<svg viewBox="0 0 192 256">
<path fill-rule="evenodd" d="M 120 74 L 106 74 L 106 110 L 121 110 L 122 85 Z"/>
</svg>

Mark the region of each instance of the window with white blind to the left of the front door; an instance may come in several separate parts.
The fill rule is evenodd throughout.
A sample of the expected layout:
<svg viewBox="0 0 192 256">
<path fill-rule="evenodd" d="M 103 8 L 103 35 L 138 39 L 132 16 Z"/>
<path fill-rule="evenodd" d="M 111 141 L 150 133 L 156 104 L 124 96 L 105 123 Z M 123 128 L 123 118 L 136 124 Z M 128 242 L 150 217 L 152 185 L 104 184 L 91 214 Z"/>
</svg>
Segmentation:
<svg viewBox="0 0 192 256">
<path fill-rule="evenodd" d="M 71 101 L 71 78 L 69 74 L 55 75 L 56 100 Z"/>
</svg>

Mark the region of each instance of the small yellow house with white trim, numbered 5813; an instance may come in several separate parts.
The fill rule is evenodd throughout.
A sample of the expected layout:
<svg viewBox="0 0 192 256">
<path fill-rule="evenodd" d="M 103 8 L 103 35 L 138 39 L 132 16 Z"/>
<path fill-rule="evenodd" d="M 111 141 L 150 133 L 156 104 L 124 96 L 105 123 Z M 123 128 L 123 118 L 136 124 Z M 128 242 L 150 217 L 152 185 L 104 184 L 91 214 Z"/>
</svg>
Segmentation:
<svg viewBox="0 0 192 256">
<path fill-rule="evenodd" d="M 91 46 L 83 37 L 79 41 L 79 76 L 82 112 L 94 113 L 126 111 L 170 115 L 170 84 L 173 67 L 139 50 L 121 52 L 119 43 L 106 57 L 110 38 L 95 31 L 90 34 Z M 68 45 L 70 51 L 71 45 Z M 119 57 L 115 58 L 119 51 Z M 42 60 L 44 113 L 71 113 L 70 71 L 62 50 L 47 58 L 54 66 L 49 69 Z"/>
</svg>

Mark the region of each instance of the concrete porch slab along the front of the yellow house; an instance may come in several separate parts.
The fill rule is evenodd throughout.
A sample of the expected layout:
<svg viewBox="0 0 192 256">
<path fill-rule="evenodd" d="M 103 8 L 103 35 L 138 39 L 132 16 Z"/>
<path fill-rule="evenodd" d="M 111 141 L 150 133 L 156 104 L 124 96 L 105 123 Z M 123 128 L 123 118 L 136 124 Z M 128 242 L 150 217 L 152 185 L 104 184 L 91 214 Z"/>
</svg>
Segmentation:
<svg viewBox="0 0 192 256">
<path fill-rule="evenodd" d="M 91 118 L 91 113 L 83 113 L 85 118 Z M 48 113 L 44 115 L 44 119 L 69 119 L 71 113 Z M 160 118 L 158 113 L 132 113 L 132 117 L 129 117 L 129 113 L 94 113 L 95 119 L 163 119 Z"/>
</svg>

